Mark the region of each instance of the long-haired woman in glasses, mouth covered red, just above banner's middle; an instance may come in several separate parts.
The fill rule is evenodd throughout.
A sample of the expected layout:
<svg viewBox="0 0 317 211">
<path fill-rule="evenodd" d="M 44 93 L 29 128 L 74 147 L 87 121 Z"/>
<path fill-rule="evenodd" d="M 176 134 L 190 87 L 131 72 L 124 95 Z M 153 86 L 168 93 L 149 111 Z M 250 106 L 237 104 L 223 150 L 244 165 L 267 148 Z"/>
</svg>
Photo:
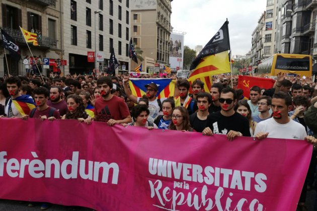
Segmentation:
<svg viewBox="0 0 317 211">
<path fill-rule="evenodd" d="M 172 122 L 169 129 L 183 132 L 194 131 L 189 124 L 189 115 L 187 109 L 182 106 L 178 106 L 173 110 Z"/>
</svg>

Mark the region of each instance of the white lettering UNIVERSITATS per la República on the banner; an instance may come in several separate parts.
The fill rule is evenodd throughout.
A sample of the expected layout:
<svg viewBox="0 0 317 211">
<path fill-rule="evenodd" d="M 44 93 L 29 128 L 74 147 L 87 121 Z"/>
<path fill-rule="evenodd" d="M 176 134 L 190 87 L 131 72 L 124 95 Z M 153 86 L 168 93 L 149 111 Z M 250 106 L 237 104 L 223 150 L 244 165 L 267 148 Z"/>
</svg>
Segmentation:
<svg viewBox="0 0 317 211">
<path fill-rule="evenodd" d="M 149 158 L 149 173 L 152 175 L 162 176 L 166 178 L 184 180 L 184 182 L 175 182 L 174 188 L 171 185 L 164 187 L 164 181 L 156 179 L 154 182 L 148 180 L 151 198 L 155 197 L 160 205 L 154 205 L 169 210 L 177 210 L 177 205 L 187 204 L 196 210 L 243 210 L 248 206 L 249 210 L 263 210 L 263 204 L 254 198 L 248 201 L 247 198 L 236 199 L 233 201 L 233 191 L 229 192 L 226 200 L 221 199 L 225 193 L 224 188 L 248 191 L 245 195 L 252 195 L 251 192 L 257 191 L 262 193 L 266 191 L 267 185 L 265 181 L 267 176 L 263 173 L 254 173 L 249 171 L 240 171 L 233 169 L 225 169 L 219 167 L 206 166 L 202 167 L 196 164 L 179 163 L 168 160 Z M 185 182 L 191 181 L 191 183 Z M 244 181 L 244 182 L 243 182 Z M 193 186 L 193 182 L 204 183 L 204 185 Z M 170 183 L 171 184 L 171 183 Z M 184 186 L 182 185 L 184 184 Z M 194 183 L 195 184 L 195 183 Z M 209 197 L 208 191 L 215 190 L 214 200 Z M 172 190 L 173 189 L 173 190 Z M 223 204 L 225 202 L 225 204 Z M 233 205 L 235 202 L 235 206 Z M 170 204 L 171 207 L 166 207 Z M 249 204 L 249 205 L 247 205 Z"/>
</svg>

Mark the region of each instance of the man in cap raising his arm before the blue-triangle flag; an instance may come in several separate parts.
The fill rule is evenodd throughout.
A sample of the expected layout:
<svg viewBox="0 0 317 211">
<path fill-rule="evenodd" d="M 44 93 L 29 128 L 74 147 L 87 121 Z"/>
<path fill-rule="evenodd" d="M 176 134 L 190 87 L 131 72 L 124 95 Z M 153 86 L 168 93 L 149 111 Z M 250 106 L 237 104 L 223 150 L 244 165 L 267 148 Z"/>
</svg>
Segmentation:
<svg viewBox="0 0 317 211">
<path fill-rule="evenodd" d="M 123 87 L 124 92 L 127 97 L 131 99 L 134 103 L 137 103 L 140 97 L 136 97 L 132 94 L 131 90 L 128 87 L 129 77 L 125 76 L 123 79 Z M 163 114 L 162 110 L 162 102 L 167 98 L 157 99 L 157 91 L 159 87 L 157 87 L 156 83 L 149 83 L 145 85 L 146 88 L 146 96 L 148 97 L 148 110 L 150 111 L 149 116 L 155 119 L 157 116 Z M 162 100 L 162 101 L 161 101 Z"/>
</svg>

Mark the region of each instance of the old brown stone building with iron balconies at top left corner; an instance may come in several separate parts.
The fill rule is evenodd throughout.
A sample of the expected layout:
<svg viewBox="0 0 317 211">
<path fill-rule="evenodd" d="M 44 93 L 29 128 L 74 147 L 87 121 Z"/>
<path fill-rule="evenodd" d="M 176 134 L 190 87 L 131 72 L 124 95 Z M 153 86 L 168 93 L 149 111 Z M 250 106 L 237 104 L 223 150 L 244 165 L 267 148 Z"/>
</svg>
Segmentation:
<svg viewBox="0 0 317 211">
<path fill-rule="evenodd" d="M 61 58 L 61 8 L 61 2 L 56 0 L 2 1 L 0 26 L 19 45 L 21 60 L 12 59 L 8 50 L 6 50 L 6 59 L 4 48 L 0 48 L 0 77 L 8 74 L 8 68 L 11 75 L 26 74 L 22 62 L 26 55 L 32 55 L 19 26 L 28 31 L 33 28 L 35 32 L 41 32 L 41 39 L 38 39 L 39 46 L 30 45 L 34 57 L 42 55 L 54 59 Z M 2 41 L 1 45 L 3 45 Z M 43 74 L 46 74 L 46 72 L 43 71 Z"/>
</svg>

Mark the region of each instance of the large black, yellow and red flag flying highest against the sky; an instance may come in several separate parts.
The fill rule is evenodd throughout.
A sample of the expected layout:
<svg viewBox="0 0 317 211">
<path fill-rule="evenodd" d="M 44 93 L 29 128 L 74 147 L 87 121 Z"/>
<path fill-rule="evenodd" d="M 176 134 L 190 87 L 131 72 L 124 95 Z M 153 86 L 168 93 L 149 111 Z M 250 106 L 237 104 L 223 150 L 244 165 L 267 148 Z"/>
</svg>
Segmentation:
<svg viewBox="0 0 317 211">
<path fill-rule="evenodd" d="M 228 21 L 226 21 L 219 31 L 211 38 L 207 45 L 200 51 L 198 56 L 191 64 L 188 81 L 195 79 L 210 81 L 212 75 L 230 72 L 230 59 L 228 51 L 230 50 Z"/>
</svg>

